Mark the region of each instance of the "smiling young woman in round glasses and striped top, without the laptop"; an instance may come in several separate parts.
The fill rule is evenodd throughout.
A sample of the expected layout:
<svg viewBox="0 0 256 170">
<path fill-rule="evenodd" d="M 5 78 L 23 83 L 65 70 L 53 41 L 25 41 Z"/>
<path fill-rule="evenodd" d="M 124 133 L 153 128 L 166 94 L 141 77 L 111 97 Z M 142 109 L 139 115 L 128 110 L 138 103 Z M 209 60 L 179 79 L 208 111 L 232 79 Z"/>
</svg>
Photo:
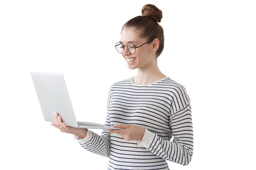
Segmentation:
<svg viewBox="0 0 256 170">
<path fill-rule="evenodd" d="M 67 127 L 54 114 L 52 125 L 74 134 L 84 149 L 109 157 L 109 170 L 169 170 L 165 160 L 187 165 L 192 159 L 189 95 L 157 66 L 164 48 L 161 19 L 161 10 L 145 5 L 142 16 L 125 23 L 115 45 L 128 68 L 137 68 L 136 76 L 110 86 L 105 124 L 124 129 L 103 130 L 99 136 Z"/>
</svg>

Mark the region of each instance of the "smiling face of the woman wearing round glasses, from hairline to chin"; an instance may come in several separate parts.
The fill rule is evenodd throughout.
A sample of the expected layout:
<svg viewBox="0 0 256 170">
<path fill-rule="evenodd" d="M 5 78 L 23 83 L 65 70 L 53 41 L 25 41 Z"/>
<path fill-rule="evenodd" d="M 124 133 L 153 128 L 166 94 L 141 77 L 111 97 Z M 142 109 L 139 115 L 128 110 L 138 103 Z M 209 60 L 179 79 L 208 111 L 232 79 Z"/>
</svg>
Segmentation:
<svg viewBox="0 0 256 170">
<path fill-rule="evenodd" d="M 146 66 L 150 65 L 153 60 L 152 42 L 144 44 L 147 40 L 145 38 L 141 38 L 133 28 L 124 28 L 122 30 L 120 42 L 125 45 L 125 50 L 122 53 L 122 56 L 126 60 L 128 68 L 146 68 Z M 135 47 L 142 44 L 144 45 L 136 48 L 136 52 L 131 54 L 126 47 L 128 42 L 132 42 Z M 134 60 L 129 61 L 129 59 Z"/>
</svg>

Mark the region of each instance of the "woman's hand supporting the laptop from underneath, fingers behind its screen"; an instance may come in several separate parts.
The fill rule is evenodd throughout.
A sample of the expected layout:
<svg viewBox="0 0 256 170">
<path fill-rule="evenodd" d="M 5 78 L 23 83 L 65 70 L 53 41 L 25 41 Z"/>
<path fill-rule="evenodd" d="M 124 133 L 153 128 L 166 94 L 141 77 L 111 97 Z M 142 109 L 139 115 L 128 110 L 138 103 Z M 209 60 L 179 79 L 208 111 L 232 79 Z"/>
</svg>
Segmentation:
<svg viewBox="0 0 256 170">
<path fill-rule="evenodd" d="M 54 123 L 51 123 L 51 125 L 60 129 L 61 132 L 73 134 L 75 136 L 78 136 L 80 139 L 86 137 L 87 129 L 66 126 L 66 124 L 62 122 L 62 119 L 59 116 L 58 112 L 53 113 L 53 118 Z"/>
</svg>

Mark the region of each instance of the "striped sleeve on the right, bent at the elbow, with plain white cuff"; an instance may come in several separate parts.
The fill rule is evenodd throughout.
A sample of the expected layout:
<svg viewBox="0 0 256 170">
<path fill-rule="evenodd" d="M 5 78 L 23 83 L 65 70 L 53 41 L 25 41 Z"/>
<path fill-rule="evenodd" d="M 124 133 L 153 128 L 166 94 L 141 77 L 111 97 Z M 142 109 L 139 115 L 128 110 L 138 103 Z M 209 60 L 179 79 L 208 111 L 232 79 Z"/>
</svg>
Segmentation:
<svg viewBox="0 0 256 170">
<path fill-rule="evenodd" d="M 185 92 L 185 94 L 187 94 Z M 165 140 L 146 129 L 139 145 L 145 147 L 155 155 L 168 160 L 188 165 L 193 154 L 193 128 L 189 96 L 186 104 L 178 111 L 170 111 L 170 127 L 174 136 L 173 141 Z"/>
</svg>

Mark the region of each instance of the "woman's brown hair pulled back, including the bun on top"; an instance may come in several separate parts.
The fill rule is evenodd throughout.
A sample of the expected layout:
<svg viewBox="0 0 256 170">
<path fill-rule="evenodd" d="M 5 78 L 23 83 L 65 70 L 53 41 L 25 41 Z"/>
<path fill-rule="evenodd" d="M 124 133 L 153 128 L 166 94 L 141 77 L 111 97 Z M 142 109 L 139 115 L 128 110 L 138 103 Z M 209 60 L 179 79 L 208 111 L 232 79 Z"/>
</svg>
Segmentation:
<svg viewBox="0 0 256 170">
<path fill-rule="evenodd" d="M 158 24 L 162 19 L 162 11 L 155 7 L 155 5 L 147 4 L 141 10 L 142 16 L 137 16 L 127 21 L 124 28 L 135 28 L 142 38 L 147 41 L 153 41 L 155 38 L 159 40 L 159 48 L 156 51 L 156 58 L 162 53 L 164 49 L 164 30 Z"/>
</svg>

